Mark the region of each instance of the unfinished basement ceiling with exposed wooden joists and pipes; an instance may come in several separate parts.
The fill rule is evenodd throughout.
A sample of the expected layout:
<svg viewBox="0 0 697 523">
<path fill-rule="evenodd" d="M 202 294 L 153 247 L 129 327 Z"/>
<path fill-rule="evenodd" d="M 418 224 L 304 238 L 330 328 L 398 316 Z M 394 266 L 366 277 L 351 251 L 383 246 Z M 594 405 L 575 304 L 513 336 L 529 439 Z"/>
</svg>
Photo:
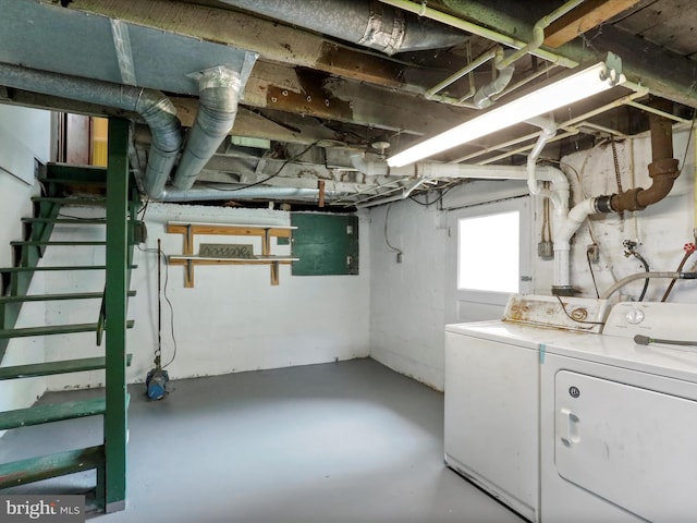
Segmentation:
<svg viewBox="0 0 697 523">
<path fill-rule="evenodd" d="M 366 172 L 355 158 L 381 161 L 479 114 L 474 102 L 498 77 L 497 60 L 530 42 L 535 24 L 570 3 L 16 0 L 3 8 L 0 62 L 160 89 L 185 129 L 198 110 L 191 74 L 232 66 L 244 85 L 234 126 L 193 190 L 172 199 L 353 208 L 458 183 Z M 559 130 L 541 159 L 645 132 L 657 97 L 673 102 L 676 125 L 689 125 L 697 108 L 693 2 L 574 3 L 545 28 L 540 47 L 514 62 L 493 105 L 609 51 L 621 57 L 633 88 L 555 111 Z M 132 165 L 143 173 L 150 133 L 137 114 L 1 85 L 0 102 L 132 118 Z M 539 133 L 518 124 L 429 160 L 522 165 Z"/>
</svg>

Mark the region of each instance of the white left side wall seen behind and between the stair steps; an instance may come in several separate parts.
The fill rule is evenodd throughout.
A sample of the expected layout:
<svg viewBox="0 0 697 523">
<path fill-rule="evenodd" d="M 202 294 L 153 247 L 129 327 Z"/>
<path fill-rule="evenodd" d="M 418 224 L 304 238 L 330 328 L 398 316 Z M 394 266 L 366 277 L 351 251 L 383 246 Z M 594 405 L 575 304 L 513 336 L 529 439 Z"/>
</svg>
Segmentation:
<svg viewBox="0 0 697 523">
<path fill-rule="evenodd" d="M 51 115 L 47 111 L 0 105 L 0 266 L 13 265 L 10 242 L 22 240 L 21 218 L 30 216 L 30 196 L 38 193 L 34 177 L 35 158 L 49 160 Z M 41 278 L 30 292 L 40 292 Z M 44 325 L 42 304 L 22 309 L 17 327 Z M 42 340 L 12 340 L 3 366 L 44 360 Z M 41 378 L 0 381 L 0 411 L 30 405 L 46 389 Z"/>
</svg>

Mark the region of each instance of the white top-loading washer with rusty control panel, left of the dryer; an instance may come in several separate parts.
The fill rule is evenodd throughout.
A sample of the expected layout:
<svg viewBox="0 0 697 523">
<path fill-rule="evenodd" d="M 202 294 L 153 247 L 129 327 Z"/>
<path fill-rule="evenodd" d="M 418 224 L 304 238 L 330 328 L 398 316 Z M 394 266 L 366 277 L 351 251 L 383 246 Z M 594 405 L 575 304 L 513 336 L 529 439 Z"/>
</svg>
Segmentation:
<svg viewBox="0 0 697 523">
<path fill-rule="evenodd" d="M 445 327 L 445 463 L 539 521 L 543 349 L 597 337 L 607 302 L 514 295 L 504 319 Z M 568 315 L 568 316 L 567 316 Z M 572 319 L 575 318 L 575 319 Z"/>
</svg>

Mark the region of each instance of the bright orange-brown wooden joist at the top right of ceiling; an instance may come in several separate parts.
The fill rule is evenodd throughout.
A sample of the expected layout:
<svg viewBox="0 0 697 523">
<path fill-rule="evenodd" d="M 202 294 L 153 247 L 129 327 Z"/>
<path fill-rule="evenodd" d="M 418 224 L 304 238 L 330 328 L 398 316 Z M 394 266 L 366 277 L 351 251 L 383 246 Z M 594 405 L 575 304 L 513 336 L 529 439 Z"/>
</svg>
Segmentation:
<svg viewBox="0 0 697 523">
<path fill-rule="evenodd" d="M 612 16 L 626 11 L 640 0 L 587 0 L 553 22 L 545 31 L 545 45 L 557 49 Z"/>
</svg>

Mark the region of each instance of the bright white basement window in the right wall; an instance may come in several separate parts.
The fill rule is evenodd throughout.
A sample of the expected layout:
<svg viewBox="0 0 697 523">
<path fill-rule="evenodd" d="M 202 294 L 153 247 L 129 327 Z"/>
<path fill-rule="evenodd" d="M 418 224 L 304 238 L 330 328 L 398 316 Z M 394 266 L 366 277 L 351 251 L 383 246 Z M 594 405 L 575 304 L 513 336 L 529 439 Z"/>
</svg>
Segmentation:
<svg viewBox="0 0 697 523">
<path fill-rule="evenodd" d="M 457 221 L 457 289 L 518 292 L 521 212 L 509 211 Z"/>
</svg>

